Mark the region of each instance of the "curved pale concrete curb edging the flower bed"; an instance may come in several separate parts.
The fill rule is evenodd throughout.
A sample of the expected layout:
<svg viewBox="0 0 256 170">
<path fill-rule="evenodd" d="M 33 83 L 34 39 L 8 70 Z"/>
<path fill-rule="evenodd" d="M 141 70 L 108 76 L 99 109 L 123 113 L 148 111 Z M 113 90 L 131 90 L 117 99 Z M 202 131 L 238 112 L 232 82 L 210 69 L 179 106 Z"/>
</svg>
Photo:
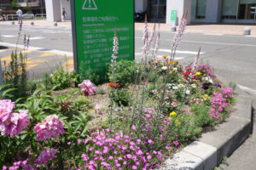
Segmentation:
<svg viewBox="0 0 256 170">
<path fill-rule="evenodd" d="M 167 159 L 161 170 L 212 170 L 230 156 L 253 132 L 252 99 L 241 92 L 226 122 Z"/>
</svg>

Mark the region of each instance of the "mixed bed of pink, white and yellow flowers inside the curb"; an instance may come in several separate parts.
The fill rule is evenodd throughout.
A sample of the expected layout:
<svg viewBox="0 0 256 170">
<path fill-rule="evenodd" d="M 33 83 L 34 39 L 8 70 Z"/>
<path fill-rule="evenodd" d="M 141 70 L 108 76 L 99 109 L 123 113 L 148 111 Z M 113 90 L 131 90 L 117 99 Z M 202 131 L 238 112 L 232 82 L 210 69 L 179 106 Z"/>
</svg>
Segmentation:
<svg viewBox="0 0 256 170">
<path fill-rule="evenodd" d="M 81 76 L 56 71 L 22 103 L 0 88 L 0 167 L 154 169 L 204 127 L 224 122 L 233 89 L 199 63 L 200 50 L 189 65 L 175 60 L 185 25 L 184 16 L 172 54 L 155 59 L 160 32 L 154 26 L 148 35 L 146 23 L 140 64 L 118 58 L 115 32 L 106 84 L 84 79 L 73 88 Z"/>
</svg>

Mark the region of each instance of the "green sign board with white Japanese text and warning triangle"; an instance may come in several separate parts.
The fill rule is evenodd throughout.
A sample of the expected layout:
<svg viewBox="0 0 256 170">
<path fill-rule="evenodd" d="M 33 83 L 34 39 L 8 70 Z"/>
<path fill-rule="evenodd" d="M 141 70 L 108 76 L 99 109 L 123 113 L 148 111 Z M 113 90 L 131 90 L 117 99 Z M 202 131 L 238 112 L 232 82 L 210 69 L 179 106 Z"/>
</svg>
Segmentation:
<svg viewBox="0 0 256 170">
<path fill-rule="evenodd" d="M 118 59 L 134 59 L 134 0 L 72 0 L 71 8 L 76 71 L 106 77 L 115 28 Z"/>
</svg>

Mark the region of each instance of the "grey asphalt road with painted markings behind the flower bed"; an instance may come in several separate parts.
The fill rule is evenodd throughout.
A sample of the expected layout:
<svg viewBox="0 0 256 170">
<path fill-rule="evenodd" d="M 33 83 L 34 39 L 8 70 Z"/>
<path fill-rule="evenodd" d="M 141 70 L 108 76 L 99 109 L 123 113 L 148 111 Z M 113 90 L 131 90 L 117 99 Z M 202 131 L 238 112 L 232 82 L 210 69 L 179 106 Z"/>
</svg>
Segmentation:
<svg viewBox="0 0 256 170">
<path fill-rule="evenodd" d="M 15 48 L 18 26 L 0 25 L 0 46 L 9 46 L 9 49 L 0 49 L 2 60 L 9 59 Z M 28 52 L 28 69 L 32 75 L 49 72 L 56 65 L 73 67 L 73 46 L 71 28 L 24 26 L 23 33 L 32 37 Z M 160 32 L 160 51 L 158 58 L 170 54 L 172 32 Z M 139 60 L 143 48 L 143 31 L 136 31 L 135 53 Z M 22 40 L 21 40 L 22 41 Z M 20 47 L 22 48 L 22 46 Z M 236 84 L 256 99 L 256 37 L 210 35 L 187 33 L 183 35 L 178 46 L 176 59 L 188 64 L 193 61 L 198 49 L 201 48 L 201 60 L 212 65 L 215 73 L 224 82 Z M 253 103 L 255 105 L 255 102 Z M 226 170 L 252 170 L 256 169 L 256 133 L 247 139 L 245 144 L 236 150 L 227 160 L 227 165 L 221 169 Z"/>
</svg>

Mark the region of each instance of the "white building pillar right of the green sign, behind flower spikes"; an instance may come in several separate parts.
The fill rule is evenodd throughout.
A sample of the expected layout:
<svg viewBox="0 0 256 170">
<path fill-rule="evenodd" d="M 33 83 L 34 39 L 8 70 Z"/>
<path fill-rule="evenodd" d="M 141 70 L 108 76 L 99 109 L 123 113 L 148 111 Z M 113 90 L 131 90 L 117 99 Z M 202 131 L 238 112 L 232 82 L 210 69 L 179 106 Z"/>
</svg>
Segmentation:
<svg viewBox="0 0 256 170">
<path fill-rule="evenodd" d="M 166 24 L 171 25 L 171 11 L 177 10 L 177 23 L 183 17 L 183 14 L 188 14 L 188 25 L 191 19 L 191 0 L 167 0 L 166 4 Z"/>
</svg>

